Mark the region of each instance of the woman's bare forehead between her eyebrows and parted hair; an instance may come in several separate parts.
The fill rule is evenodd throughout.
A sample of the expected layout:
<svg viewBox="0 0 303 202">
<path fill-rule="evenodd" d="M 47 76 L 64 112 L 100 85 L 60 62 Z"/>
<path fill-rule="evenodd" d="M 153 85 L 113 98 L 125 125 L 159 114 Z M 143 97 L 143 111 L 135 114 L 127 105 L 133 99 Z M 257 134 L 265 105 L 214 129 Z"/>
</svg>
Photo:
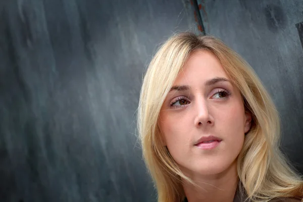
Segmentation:
<svg viewBox="0 0 303 202">
<path fill-rule="evenodd" d="M 217 57 L 200 50 L 189 56 L 174 84 L 201 83 L 214 77 L 228 78 Z"/>
</svg>

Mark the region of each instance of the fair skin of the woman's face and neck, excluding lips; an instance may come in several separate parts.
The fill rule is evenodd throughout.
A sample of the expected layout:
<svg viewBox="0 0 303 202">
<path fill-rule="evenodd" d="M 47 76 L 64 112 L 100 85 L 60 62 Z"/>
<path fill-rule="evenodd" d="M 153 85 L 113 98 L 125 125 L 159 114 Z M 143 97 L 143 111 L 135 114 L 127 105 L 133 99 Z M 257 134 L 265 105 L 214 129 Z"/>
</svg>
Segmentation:
<svg viewBox="0 0 303 202">
<path fill-rule="evenodd" d="M 183 182 L 188 201 L 233 201 L 237 156 L 251 124 L 240 91 L 208 51 L 192 53 L 173 86 L 162 106 L 159 126 L 170 155 L 198 185 Z M 221 139 L 216 147 L 196 145 L 209 135 Z"/>
</svg>

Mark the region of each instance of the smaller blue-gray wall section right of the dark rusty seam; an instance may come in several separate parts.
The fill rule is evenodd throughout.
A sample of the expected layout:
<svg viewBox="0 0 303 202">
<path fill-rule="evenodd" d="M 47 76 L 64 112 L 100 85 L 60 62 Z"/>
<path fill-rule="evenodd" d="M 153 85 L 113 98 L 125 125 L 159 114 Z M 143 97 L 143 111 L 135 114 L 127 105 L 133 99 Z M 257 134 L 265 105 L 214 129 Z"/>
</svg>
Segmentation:
<svg viewBox="0 0 303 202">
<path fill-rule="evenodd" d="M 281 117 L 282 150 L 303 173 L 303 1 L 198 4 L 206 32 L 242 55 L 272 95 Z"/>
</svg>

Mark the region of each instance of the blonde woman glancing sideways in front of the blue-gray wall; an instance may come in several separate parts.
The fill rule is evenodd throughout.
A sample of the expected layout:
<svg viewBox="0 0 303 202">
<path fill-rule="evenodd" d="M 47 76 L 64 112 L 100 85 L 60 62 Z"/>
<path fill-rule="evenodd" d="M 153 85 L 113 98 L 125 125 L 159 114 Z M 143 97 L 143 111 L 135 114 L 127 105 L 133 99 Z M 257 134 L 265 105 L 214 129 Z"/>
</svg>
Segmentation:
<svg viewBox="0 0 303 202">
<path fill-rule="evenodd" d="M 158 201 L 302 199 L 269 94 L 215 37 L 181 33 L 162 45 L 144 76 L 138 130 Z"/>
</svg>

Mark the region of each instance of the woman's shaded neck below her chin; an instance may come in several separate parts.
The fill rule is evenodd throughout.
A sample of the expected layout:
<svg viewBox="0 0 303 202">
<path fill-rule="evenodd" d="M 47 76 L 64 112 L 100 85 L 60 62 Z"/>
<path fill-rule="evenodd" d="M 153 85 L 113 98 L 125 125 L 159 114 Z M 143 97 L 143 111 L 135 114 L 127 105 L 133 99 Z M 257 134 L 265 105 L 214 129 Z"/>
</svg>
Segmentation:
<svg viewBox="0 0 303 202">
<path fill-rule="evenodd" d="M 183 182 L 188 202 L 233 201 L 238 186 L 236 161 L 222 173 L 207 176 L 191 174 L 189 177 L 197 186 Z"/>
</svg>

